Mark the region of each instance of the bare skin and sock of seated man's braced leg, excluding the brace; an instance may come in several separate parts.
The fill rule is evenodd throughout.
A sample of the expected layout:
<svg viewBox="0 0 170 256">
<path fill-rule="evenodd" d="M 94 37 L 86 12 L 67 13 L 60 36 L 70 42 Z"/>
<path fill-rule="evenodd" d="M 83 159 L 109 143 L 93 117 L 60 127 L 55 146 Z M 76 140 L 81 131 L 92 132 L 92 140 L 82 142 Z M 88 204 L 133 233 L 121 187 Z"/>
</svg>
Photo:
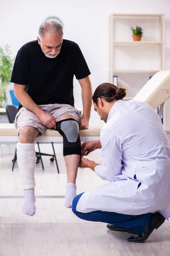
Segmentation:
<svg viewBox="0 0 170 256">
<path fill-rule="evenodd" d="M 62 115 L 58 121 L 73 118 L 77 121 L 77 119 L 70 115 Z M 76 177 L 77 177 L 77 169 L 79 166 L 80 156 L 77 154 L 67 155 L 64 157 L 66 170 L 67 170 L 67 184 L 65 189 L 65 207 L 71 208 L 72 201 L 77 196 L 76 194 Z"/>
</svg>

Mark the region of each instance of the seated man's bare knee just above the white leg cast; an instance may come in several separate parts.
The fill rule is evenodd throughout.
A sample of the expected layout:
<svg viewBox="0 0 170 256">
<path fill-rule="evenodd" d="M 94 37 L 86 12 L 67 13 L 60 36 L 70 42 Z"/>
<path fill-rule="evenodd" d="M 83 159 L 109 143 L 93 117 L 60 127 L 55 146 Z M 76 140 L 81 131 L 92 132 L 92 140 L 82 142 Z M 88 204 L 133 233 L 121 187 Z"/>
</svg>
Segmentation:
<svg viewBox="0 0 170 256">
<path fill-rule="evenodd" d="M 34 143 L 35 138 L 39 134 L 37 128 L 32 126 L 24 126 L 20 129 L 19 142 L 20 143 Z"/>
</svg>

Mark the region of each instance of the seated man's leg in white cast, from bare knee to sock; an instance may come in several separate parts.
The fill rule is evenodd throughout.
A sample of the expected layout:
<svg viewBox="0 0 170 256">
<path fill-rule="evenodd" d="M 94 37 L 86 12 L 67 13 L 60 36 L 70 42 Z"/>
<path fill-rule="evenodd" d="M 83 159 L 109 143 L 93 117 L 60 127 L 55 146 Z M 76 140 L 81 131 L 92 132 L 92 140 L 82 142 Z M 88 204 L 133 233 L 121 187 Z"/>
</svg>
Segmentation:
<svg viewBox="0 0 170 256">
<path fill-rule="evenodd" d="M 20 130 L 19 142 L 17 143 L 17 162 L 23 182 L 25 201 L 23 213 L 27 215 L 35 214 L 35 148 L 34 140 L 39 134 L 38 129 L 31 126 L 24 126 Z"/>
</svg>

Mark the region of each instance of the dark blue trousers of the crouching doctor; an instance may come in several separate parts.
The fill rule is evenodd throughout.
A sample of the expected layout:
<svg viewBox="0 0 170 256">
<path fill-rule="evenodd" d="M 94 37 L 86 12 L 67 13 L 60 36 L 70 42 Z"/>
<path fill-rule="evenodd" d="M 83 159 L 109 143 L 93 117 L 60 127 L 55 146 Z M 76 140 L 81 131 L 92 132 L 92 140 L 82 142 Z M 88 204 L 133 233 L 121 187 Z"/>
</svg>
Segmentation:
<svg viewBox="0 0 170 256">
<path fill-rule="evenodd" d="M 82 193 L 83 194 L 83 193 Z M 103 212 L 103 211 L 94 211 L 94 212 L 77 212 L 76 207 L 79 201 L 79 198 L 82 194 L 77 195 L 72 204 L 72 211 L 77 217 L 86 220 L 86 221 L 97 221 L 104 222 L 108 224 L 113 224 L 119 227 L 126 229 L 132 229 L 136 234 L 139 234 L 144 227 L 147 225 L 152 213 L 146 213 L 142 215 L 126 215 L 116 212 Z"/>
</svg>

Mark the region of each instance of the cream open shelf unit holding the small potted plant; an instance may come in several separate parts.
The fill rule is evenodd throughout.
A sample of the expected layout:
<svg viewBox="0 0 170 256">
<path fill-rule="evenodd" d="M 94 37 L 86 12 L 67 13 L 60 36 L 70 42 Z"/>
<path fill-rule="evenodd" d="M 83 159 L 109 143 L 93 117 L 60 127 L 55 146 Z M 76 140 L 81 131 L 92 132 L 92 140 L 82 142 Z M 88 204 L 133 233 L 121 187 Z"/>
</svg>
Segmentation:
<svg viewBox="0 0 170 256">
<path fill-rule="evenodd" d="M 142 18 L 143 17 L 143 18 Z M 114 26 L 115 25 L 115 19 L 119 19 L 119 22 L 124 20 L 124 19 L 130 19 L 130 18 L 136 18 L 136 23 L 138 19 L 151 19 L 152 18 L 158 18 L 158 29 L 159 29 L 159 38 L 156 41 L 119 41 L 114 39 Z M 121 20 L 122 19 L 122 20 Z M 137 23 L 138 24 L 138 23 Z M 126 39 L 125 39 L 126 40 Z M 133 39 L 132 39 L 133 40 Z M 139 50 L 139 47 L 141 47 L 141 52 L 142 50 L 145 50 L 143 48 L 144 46 L 158 46 L 159 48 L 159 69 L 158 70 L 141 70 L 138 69 L 137 67 L 134 69 L 116 69 L 114 67 L 114 50 L 115 47 L 126 47 L 126 51 L 128 49 L 131 49 L 131 47 L 134 47 L 133 50 L 135 51 L 136 49 Z M 136 46 L 139 46 L 136 48 Z M 129 47 L 129 48 L 127 48 Z M 157 73 L 159 70 L 164 70 L 164 65 L 165 65 L 165 18 L 164 14 L 112 14 L 110 15 L 110 41 L 109 41 L 109 48 L 110 48 L 110 75 L 109 75 L 109 80 L 111 83 L 113 83 L 113 76 L 121 76 L 121 74 L 144 74 L 147 76 L 153 76 L 155 73 Z M 121 48 L 122 49 L 122 48 Z M 151 49 L 152 50 L 152 49 Z M 119 79 L 117 78 L 117 81 Z M 116 84 L 117 85 L 117 84 Z M 133 99 L 133 97 L 125 97 L 124 100 L 130 100 Z M 165 111 L 163 112 L 163 124 L 165 126 Z"/>
</svg>

